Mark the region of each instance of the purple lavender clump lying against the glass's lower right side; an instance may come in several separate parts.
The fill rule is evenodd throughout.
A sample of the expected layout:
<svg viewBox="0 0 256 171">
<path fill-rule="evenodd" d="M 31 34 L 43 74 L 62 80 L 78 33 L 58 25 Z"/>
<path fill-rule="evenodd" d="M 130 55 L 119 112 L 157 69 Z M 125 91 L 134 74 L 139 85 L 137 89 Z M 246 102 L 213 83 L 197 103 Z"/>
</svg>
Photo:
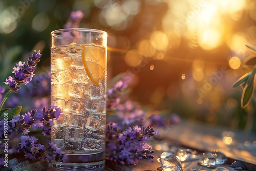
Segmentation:
<svg viewBox="0 0 256 171">
<path fill-rule="evenodd" d="M 153 162 L 154 150 L 145 142 L 148 138 L 158 135 L 159 130 L 136 125 L 133 129 L 129 127 L 118 132 L 117 126 L 113 122 L 106 126 L 106 158 L 118 164 L 138 164 L 142 159 Z"/>
</svg>

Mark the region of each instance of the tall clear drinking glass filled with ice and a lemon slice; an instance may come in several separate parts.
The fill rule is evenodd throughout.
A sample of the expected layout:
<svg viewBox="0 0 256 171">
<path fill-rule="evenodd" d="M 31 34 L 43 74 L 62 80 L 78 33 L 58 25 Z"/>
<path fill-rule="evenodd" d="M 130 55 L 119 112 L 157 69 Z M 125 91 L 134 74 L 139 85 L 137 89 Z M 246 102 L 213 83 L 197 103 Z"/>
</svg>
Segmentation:
<svg viewBox="0 0 256 171">
<path fill-rule="evenodd" d="M 106 37 L 101 30 L 51 32 L 51 103 L 63 110 L 52 126 L 61 148 L 59 170 L 100 170 L 105 165 Z"/>
</svg>

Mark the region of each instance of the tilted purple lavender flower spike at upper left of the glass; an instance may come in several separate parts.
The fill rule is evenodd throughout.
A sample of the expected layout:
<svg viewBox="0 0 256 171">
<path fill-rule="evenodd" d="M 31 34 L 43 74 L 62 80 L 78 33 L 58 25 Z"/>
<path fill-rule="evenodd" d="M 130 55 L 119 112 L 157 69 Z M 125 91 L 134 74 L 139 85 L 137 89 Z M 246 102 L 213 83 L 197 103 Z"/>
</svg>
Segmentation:
<svg viewBox="0 0 256 171">
<path fill-rule="evenodd" d="M 9 76 L 4 82 L 11 91 L 17 93 L 20 90 L 20 87 L 18 85 L 26 85 L 29 83 L 29 81 L 32 80 L 34 76 L 34 71 L 36 69 L 36 64 L 40 61 L 40 57 L 40 51 L 34 51 L 34 53 L 29 56 L 27 63 L 19 61 L 16 64 L 17 67 L 14 67 L 12 72 L 14 73 L 14 76 Z"/>
</svg>

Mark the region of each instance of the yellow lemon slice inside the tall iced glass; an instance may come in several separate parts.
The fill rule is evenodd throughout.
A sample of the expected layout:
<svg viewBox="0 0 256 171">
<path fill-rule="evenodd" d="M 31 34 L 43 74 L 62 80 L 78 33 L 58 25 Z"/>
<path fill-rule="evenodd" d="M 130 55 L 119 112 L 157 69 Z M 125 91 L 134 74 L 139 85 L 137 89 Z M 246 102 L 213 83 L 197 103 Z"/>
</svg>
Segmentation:
<svg viewBox="0 0 256 171">
<path fill-rule="evenodd" d="M 105 49 L 82 45 L 82 63 L 90 80 L 99 85 L 105 76 Z"/>
</svg>

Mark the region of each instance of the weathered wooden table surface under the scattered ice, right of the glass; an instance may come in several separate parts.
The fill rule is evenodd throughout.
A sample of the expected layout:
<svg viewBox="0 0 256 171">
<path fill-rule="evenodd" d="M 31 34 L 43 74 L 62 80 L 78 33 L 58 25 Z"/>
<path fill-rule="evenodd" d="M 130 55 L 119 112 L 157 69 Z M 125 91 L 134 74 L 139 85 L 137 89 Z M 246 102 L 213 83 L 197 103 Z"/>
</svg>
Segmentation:
<svg viewBox="0 0 256 171">
<path fill-rule="evenodd" d="M 234 168 L 229 165 L 235 160 L 243 161 L 247 165 L 248 170 L 256 170 L 256 135 L 193 121 L 181 121 L 174 127 L 165 125 L 160 127 L 160 131 L 164 133 L 162 139 L 148 142 L 153 148 L 155 145 L 169 144 L 170 146 L 184 145 L 191 149 L 199 149 L 201 152 L 211 152 L 218 149 L 228 157 L 227 164 L 221 166 L 228 168 L 230 171 L 234 170 Z M 223 142 L 223 134 L 230 132 L 232 132 L 233 143 L 225 144 Z M 153 154 L 155 156 L 153 163 L 150 160 L 141 160 L 137 165 L 115 165 L 107 161 L 106 165 L 110 169 L 117 171 L 157 171 L 157 168 L 160 167 L 157 158 L 160 157 L 162 152 L 160 150 Z M 184 170 L 191 168 L 213 170 L 198 165 L 197 160 L 184 162 L 182 166 Z"/>
</svg>

